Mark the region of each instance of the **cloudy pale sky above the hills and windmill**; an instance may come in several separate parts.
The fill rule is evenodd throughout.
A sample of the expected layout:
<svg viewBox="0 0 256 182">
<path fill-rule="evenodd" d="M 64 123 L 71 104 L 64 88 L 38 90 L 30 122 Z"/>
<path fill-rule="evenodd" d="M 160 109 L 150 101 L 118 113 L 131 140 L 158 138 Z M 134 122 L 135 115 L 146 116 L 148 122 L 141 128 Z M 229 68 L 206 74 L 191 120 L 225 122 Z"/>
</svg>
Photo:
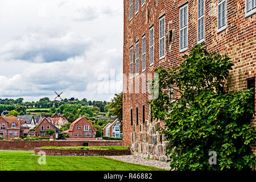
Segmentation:
<svg viewBox="0 0 256 182">
<path fill-rule="evenodd" d="M 0 98 L 122 91 L 122 0 L 0 0 Z"/>
</svg>

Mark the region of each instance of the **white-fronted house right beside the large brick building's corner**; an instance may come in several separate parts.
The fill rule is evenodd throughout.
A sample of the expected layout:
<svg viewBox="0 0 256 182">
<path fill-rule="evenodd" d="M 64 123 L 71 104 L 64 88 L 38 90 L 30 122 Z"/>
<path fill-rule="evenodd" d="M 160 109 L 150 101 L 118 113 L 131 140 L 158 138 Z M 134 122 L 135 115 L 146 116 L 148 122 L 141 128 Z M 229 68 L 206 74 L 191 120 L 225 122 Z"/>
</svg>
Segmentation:
<svg viewBox="0 0 256 182">
<path fill-rule="evenodd" d="M 123 134 L 120 133 L 120 122 L 118 119 L 115 119 L 113 123 L 108 123 L 103 129 L 103 136 L 106 137 L 123 137 Z"/>
</svg>

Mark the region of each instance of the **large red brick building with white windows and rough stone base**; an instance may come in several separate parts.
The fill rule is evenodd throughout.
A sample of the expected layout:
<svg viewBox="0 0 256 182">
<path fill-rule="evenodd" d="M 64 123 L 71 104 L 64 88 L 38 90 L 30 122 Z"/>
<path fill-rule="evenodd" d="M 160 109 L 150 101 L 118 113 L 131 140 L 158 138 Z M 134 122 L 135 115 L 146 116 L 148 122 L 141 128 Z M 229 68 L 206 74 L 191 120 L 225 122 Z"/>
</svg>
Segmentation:
<svg viewBox="0 0 256 182">
<path fill-rule="evenodd" d="M 228 91 L 254 87 L 256 71 L 255 0 L 124 0 L 123 145 L 134 155 L 166 160 L 167 142 L 151 121 L 148 73 L 177 67 L 198 43 L 228 55 L 233 70 Z M 131 75 L 132 74 L 132 75 Z M 145 91 L 146 90 L 146 91 Z M 251 120 L 256 126 L 255 117 Z M 255 148 L 254 148 L 255 152 Z"/>
</svg>

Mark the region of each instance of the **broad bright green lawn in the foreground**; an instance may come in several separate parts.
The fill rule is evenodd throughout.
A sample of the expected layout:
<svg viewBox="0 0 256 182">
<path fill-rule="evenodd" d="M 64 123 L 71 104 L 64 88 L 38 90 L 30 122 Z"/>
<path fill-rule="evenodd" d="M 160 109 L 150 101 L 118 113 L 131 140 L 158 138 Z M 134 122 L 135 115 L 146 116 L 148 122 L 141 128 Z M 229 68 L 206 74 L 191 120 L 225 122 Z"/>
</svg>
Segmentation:
<svg viewBox="0 0 256 182">
<path fill-rule="evenodd" d="M 0 171 L 156 171 L 164 170 L 130 164 L 102 156 L 46 156 L 46 164 L 39 165 L 40 156 L 34 151 L 0 151 Z"/>
</svg>

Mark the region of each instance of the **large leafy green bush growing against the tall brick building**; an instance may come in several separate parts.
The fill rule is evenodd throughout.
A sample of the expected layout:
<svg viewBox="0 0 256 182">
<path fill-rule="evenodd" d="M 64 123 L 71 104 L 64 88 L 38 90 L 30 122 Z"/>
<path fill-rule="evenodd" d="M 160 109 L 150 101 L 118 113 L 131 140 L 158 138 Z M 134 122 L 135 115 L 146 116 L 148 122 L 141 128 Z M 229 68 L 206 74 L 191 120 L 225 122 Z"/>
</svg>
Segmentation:
<svg viewBox="0 0 256 182">
<path fill-rule="evenodd" d="M 152 100 L 154 119 L 165 122 L 162 132 L 169 141 L 170 166 L 177 170 L 244 170 L 255 166 L 251 147 L 256 130 L 251 90 L 225 92 L 232 69 L 229 57 L 195 46 L 180 67 L 156 69 L 159 97 Z M 152 81 L 152 86 L 156 80 Z M 173 86 L 174 85 L 174 86 Z M 179 98 L 172 95 L 174 90 Z M 215 151 L 217 164 L 209 164 Z"/>
</svg>

